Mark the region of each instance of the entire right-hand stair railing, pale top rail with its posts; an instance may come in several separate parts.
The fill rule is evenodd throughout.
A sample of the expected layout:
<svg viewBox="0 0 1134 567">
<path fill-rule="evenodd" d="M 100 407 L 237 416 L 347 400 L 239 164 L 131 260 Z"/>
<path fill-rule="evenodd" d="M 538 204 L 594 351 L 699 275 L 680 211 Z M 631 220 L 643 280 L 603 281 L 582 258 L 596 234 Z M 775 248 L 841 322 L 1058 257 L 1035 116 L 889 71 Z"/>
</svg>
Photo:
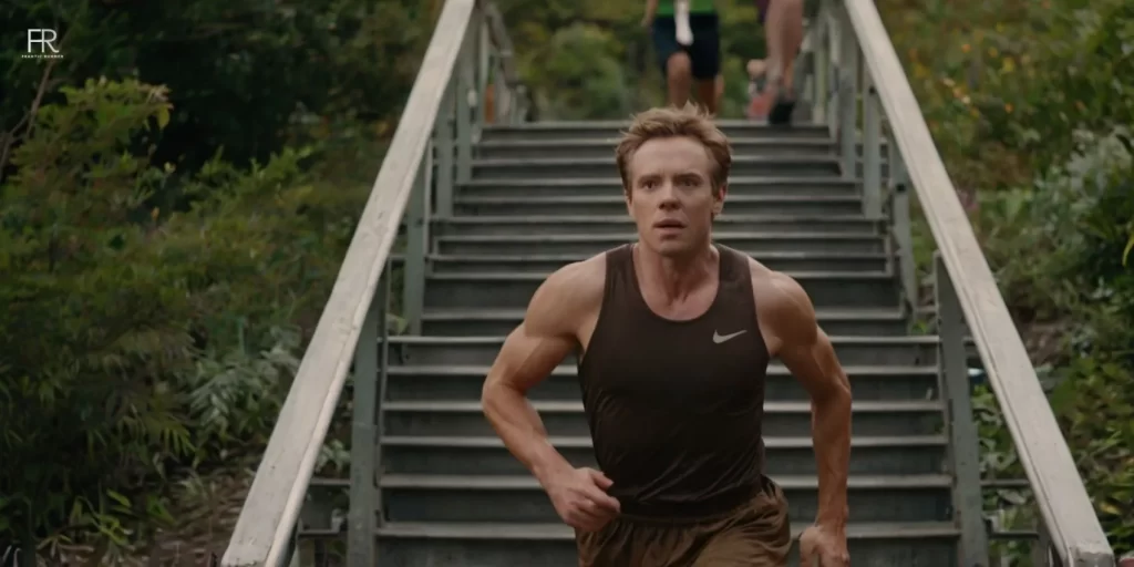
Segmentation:
<svg viewBox="0 0 1134 567">
<path fill-rule="evenodd" d="M 946 332 L 939 330 L 940 340 L 943 345 L 948 344 L 946 348 L 963 356 L 963 350 L 955 348 L 963 340 L 959 330 L 963 315 L 963 322 L 967 322 L 972 331 L 988 382 L 996 392 L 1005 423 L 1035 494 L 1042 516 L 1040 540 L 1046 547 L 1041 550 L 1040 559 L 1055 565 L 1114 566 L 1114 551 L 1094 514 L 1070 450 L 957 198 L 874 2 L 831 0 L 826 5 L 823 15 L 819 18 L 820 26 L 823 26 L 820 33 L 832 45 L 832 52 L 820 56 L 822 66 L 830 66 L 819 69 L 816 75 L 820 85 L 816 87 L 816 103 L 826 101 L 829 104 L 823 113 L 829 117 L 832 135 L 837 134 L 839 137 L 845 160 L 844 172 L 848 176 L 857 175 L 855 144 L 857 120 L 862 117 L 863 138 L 864 142 L 870 142 L 864 147 L 863 172 L 868 214 L 878 213 L 881 202 L 879 152 L 877 147 L 871 153 L 868 152 L 880 139 L 881 120 L 888 122 L 891 135 L 890 185 L 899 188 L 906 181 L 913 185 L 938 246 L 939 272 L 945 272 L 938 273 L 938 286 L 945 288 L 938 293 L 951 296 L 945 299 L 953 308 L 950 313 L 943 314 L 942 322 L 947 324 L 942 327 L 953 329 L 950 333 L 957 337 L 946 337 Z M 837 70 L 832 60 L 835 58 L 839 59 Z M 860 94 L 862 113 L 858 112 Z M 823 96 L 827 99 L 822 99 Z M 908 220 L 906 223 L 908 225 Z M 904 230 L 908 230 L 908 226 Z M 907 238 L 906 242 L 908 243 Z M 902 253 L 908 256 L 908 249 Z M 903 261 L 909 263 L 912 259 Z M 904 277 L 909 278 L 908 274 Z M 906 288 L 911 286 L 909 281 L 904 285 Z M 948 305 L 939 304 L 939 310 L 949 310 Z M 942 364 L 949 366 L 948 362 Z M 945 373 L 955 373 L 956 370 L 948 367 Z M 967 387 L 963 392 L 950 393 L 954 403 L 962 396 L 967 399 Z M 965 434 L 975 438 L 973 431 L 966 431 Z M 971 440 L 975 442 L 975 439 Z M 957 438 L 954 438 L 955 443 L 956 441 Z M 954 447 L 954 450 L 957 451 L 958 448 Z M 972 468 L 975 463 L 964 466 L 970 467 L 970 471 L 958 472 L 957 491 L 968 494 L 968 506 L 972 506 L 971 493 L 979 488 L 962 484 L 967 482 L 965 479 L 974 477 Z M 979 498 L 975 506 L 980 506 Z M 987 565 L 988 561 L 987 550 L 981 558 L 982 553 L 976 549 L 984 544 L 984 534 L 973 532 L 973 526 L 979 525 L 981 519 L 980 511 L 979 508 L 972 510 L 970 516 L 976 518 L 970 517 L 968 526 L 962 526 L 962 547 L 966 545 L 964 540 L 968 538 L 971 548 L 964 556 L 965 565 Z M 962 523 L 966 523 L 965 518 L 962 518 Z"/>
</svg>

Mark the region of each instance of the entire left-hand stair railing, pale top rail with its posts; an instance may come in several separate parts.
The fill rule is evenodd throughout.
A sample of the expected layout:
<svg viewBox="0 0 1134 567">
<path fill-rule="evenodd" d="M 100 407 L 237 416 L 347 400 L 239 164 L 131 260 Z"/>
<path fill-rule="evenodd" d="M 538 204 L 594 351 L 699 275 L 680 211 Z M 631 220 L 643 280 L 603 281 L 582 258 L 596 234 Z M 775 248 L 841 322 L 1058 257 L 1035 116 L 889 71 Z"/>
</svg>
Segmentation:
<svg viewBox="0 0 1134 567">
<path fill-rule="evenodd" d="M 493 53 L 493 48 L 499 49 Z M 370 374 L 378 373 L 375 353 L 382 332 L 378 329 L 384 329 L 386 318 L 386 306 L 379 305 L 386 294 L 379 282 L 388 276 L 390 251 L 407 208 L 412 219 L 406 219 L 404 308 L 411 325 L 420 324 L 415 319 L 421 297 L 415 294 L 423 281 L 415 280 L 424 278 L 428 218 L 433 208 L 441 214 L 451 210 L 452 184 L 468 176 L 474 128 L 483 122 L 480 101 L 493 70 L 497 83 L 492 86 L 508 101 L 498 115 L 505 121 L 522 119 L 523 93 L 516 92 L 519 81 L 499 11 L 488 0 L 447 0 L 338 279 L 280 409 L 223 566 L 277 567 L 289 560 L 315 463 L 353 365 L 356 390 L 365 382 L 365 391 L 375 391 L 376 376 Z M 370 409 L 373 417 L 373 403 Z M 353 456 L 373 452 L 373 445 L 367 443 L 375 442 L 373 428 L 367 431 L 363 423 L 359 429 L 359 421 L 356 415 L 355 432 L 367 432 L 370 439 L 353 439 L 357 446 Z M 353 482 L 374 479 L 374 459 L 357 467 L 366 469 L 352 471 Z M 362 541 L 369 548 L 361 556 L 350 550 L 352 558 L 374 556 L 375 503 L 352 505 L 350 545 Z M 359 525 L 354 525 L 356 519 Z"/>
</svg>

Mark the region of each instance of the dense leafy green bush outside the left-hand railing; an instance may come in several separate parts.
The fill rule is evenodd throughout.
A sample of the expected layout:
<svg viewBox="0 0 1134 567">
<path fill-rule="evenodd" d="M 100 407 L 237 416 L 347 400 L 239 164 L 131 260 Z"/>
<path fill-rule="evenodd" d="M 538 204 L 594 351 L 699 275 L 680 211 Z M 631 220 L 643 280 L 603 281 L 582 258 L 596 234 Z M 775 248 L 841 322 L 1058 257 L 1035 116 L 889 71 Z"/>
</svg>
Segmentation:
<svg viewBox="0 0 1134 567">
<path fill-rule="evenodd" d="M 365 195 L 312 151 L 181 179 L 144 206 L 163 87 L 90 81 L 35 117 L 0 186 L 0 541 L 128 548 L 168 525 L 169 480 L 257 450 Z M 345 191 L 346 189 L 346 191 Z M 141 530 L 141 531 L 139 531 Z"/>
</svg>

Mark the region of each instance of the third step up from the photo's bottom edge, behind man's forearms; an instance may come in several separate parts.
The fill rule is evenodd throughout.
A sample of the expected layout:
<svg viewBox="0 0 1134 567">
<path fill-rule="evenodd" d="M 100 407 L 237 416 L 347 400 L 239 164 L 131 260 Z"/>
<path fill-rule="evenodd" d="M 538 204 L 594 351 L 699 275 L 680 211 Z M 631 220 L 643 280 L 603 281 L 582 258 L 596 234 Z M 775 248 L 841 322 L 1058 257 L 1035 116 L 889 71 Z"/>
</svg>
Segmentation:
<svg viewBox="0 0 1134 567">
<path fill-rule="evenodd" d="M 589 435 L 549 439 L 574 466 L 598 467 Z M 386 474 L 528 474 L 496 435 L 384 435 L 380 442 Z M 941 474 L 947 442 L 945 435 L 854 435 L 850 474 Z M 764 446 L 769 476 L 815 474 L 811 435 L 764 437 Z"/>
</svg>

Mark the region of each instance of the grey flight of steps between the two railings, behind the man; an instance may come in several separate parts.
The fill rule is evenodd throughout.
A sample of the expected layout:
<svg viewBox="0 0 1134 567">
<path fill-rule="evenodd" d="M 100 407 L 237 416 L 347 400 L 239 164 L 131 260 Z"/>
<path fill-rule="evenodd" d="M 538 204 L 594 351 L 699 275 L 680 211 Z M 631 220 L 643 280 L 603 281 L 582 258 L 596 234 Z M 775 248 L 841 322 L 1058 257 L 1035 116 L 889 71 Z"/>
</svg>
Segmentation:
<svg viewBox="0 0 1134 567">
<path fill-rule="evenodd" d="M 889 246 L 840 177 L 826 127 L 723 122 L 735 170 L 720 244 L 794 276 L 854 390 L 850 553 L 871 566 L 955 566 L 937 344 L 907 332 Z M 480 389 L 503 337 L 553 270 L 631 242 L 613 161 L 619 124 L 493 127 L 452 218 L 435 219 L 422 336 L 390 339 L 381 401 L 383 566 L 573 566 L 573 533 L 484 420 Z M 810 404 L 773 364 L 768 474 L 796 531 L 815 515 Z M 574 359 L 532 392 L 556 447 L 596 466 Z"/>
</svg>

